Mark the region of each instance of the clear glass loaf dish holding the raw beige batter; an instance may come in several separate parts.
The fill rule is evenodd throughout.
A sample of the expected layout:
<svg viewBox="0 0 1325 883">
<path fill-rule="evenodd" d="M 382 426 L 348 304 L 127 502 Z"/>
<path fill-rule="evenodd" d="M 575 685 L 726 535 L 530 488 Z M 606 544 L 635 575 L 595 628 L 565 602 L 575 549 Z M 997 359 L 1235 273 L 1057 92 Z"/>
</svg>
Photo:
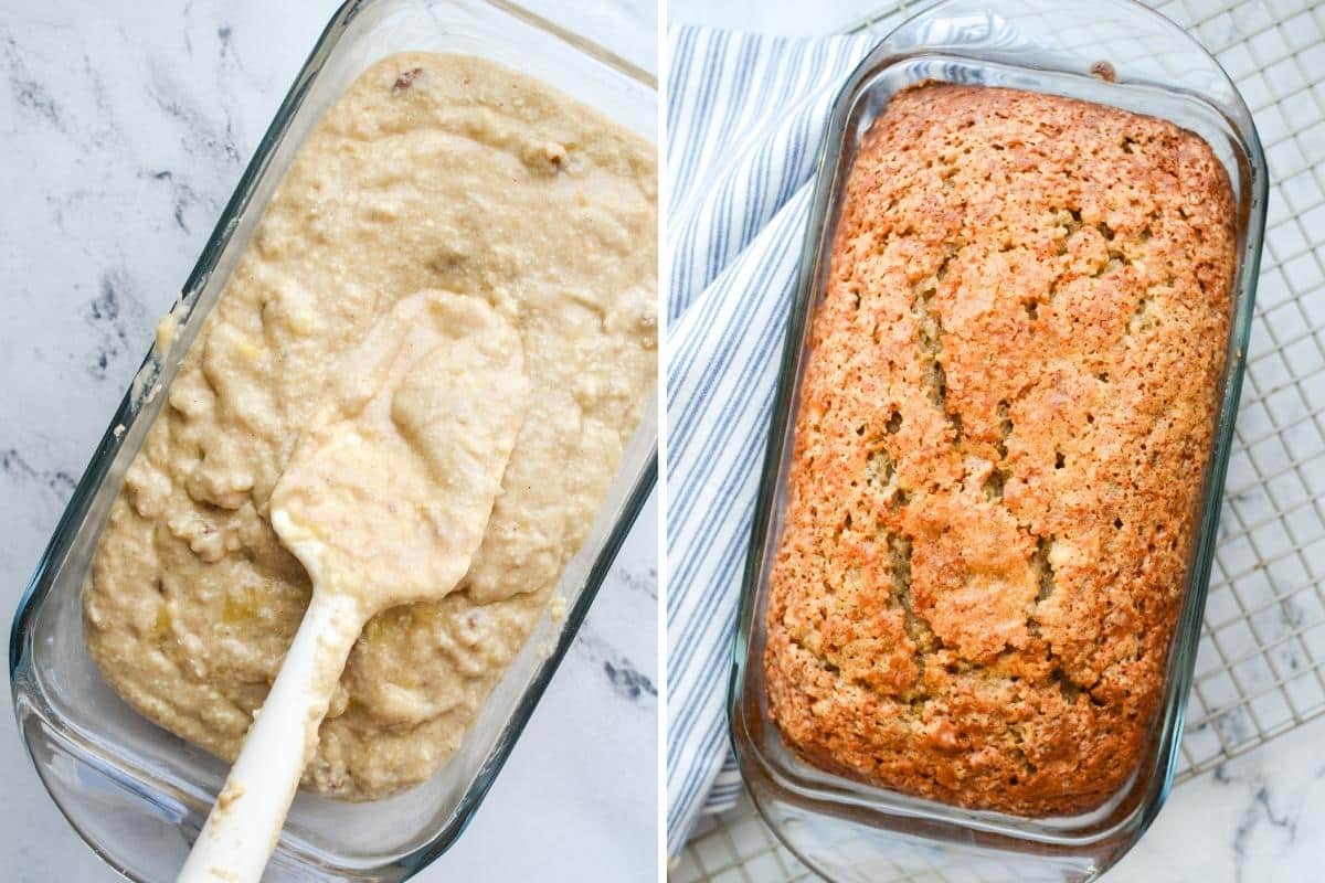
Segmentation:
<svg viewBox="0 0 1325 883">
<path fill-rule="evenodd" d="M 331 19 L 184 286 L 174 343 L 143 361 L 15 614 L 9 674 L 24 745 L 74 829 L 135 880 L 175 879 L 227 765 L 148 723 L 102 682 L 82 637 L 81 590 L 91 553 L 125 470 L 166 398 L 154 392 L 174 377 L 301 142 L 360 71 L 401 50 L 490 58 L 656 142 L 657 90 L 649 74 L 506 0 L 352 0 Z M 348 804 L 301 793 L 264 879 L 400 880 L 456 841 L 655 483 L 656 440 L 656 409 L 647 406 L 598 520 L 562 577 L 564 621 L 543 617 L 450 763 L 388 800 Z"/>
</svg>

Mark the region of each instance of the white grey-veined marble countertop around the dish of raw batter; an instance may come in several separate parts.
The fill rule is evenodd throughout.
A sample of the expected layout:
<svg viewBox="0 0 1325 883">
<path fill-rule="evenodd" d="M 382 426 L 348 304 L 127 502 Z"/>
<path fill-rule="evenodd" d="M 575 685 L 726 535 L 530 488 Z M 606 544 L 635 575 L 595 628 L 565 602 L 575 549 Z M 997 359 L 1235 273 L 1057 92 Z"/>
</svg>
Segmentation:
<svg viewBox="0 0 1325 883">
<path fill-rule="evenodd" d="M 0 609 L 337 5 L 0 3 Z M 629 36 L 653 3 L 530 5 L 653 68 L 651 29 Z M 656 518 L 651 502 L 473 825 L 417 879 L 653 878 Z M 0 878 L 118 879 L 48 800 L 9 712 L 0 784 Z"/>
</svg>

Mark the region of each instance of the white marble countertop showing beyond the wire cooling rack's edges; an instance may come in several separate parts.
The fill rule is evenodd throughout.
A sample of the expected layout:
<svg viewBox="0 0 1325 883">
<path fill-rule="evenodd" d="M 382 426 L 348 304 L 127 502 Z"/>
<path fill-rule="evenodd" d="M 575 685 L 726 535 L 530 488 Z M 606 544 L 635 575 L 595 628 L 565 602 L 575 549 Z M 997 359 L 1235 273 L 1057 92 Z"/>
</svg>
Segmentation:
<svg viewBox="0 0 1325 883">
<path fill-rule="evenodd" d="M 731 0 L 721 4 L 712 0 L 669 0 L 668 17 L 670 24 L 814 36 L 837 32 L 888 5 L 890 4 L 885 0 L 835 0 L 832 4 L 800 0 Z M 1210 5 L 1212 4 L 1189 4 L 1191 9 Z M 1284 4 L 1267 5 L 1277 9 Z M 1288 0 L 1288 5 L 1306 4 Z M 1293 11 L 1287 15 L 1292 16 Z M 1236 20 L 1219 20 L 1212 26 L 1238 25 Z M 1255 30 L 1255 25 L 1251 29 Z M 1320 78 L 1316 79 L 1318 82 Z M 1251 95 L 1248 101 L 1252 101 Z M 1257 116 L 1261 135 L 1269 144 L 1273 135 L 1267 131 L 1267 122 L 1273 123 L 1272 119 L 1263 120 Z M 1325 163 L 1325 155 L 1316 159 L 1317 163 Z M 1273 180 L 1285 164 L 1285 158 L 1271 151 L 1269 160 Z M 1283 209 L 1275 207 L 1272 199 L 1269 248 L 1279 254 L 1280 241 L 1276 237 L 1281 236 L 1281 228 L 1275 226 L 1276 208 Z M 1312 238 L 1316 241 L 1325 238 L 1325 229 L 1313 233 Z M 1263 297 L 1261 301 L 1267 298 Z M 1264 343 L 1260 339 L 1261 331 L 1253 331 L 1257 344 Z M 1272 471 L 1273 466 L 1267 469 Z M 1321 870 L 1325 862 L 1322 745 L 1325 719 L 1316 719 L 1177 786 L 1150 831 L 1121 863 L 1105 874 L 1104 880 L 1302 883 L 1325 879 Z"/>
</svg>

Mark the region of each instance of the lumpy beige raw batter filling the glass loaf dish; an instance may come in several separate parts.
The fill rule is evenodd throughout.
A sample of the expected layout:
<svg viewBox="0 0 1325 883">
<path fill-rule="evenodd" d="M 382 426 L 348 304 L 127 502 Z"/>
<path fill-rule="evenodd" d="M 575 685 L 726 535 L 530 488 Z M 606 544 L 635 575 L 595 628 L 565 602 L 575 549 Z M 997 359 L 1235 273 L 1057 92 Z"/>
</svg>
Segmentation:
<svg viewBox="0 0 1325 883">
<path fill-rule="evenodd" d="M 83 597 L 106 680 L 237 753 L 307 605 L 269 499 L 338 355 L 419 291 L 477 298 L 518 331 L 529 381 L 502 490 L 461 585 L 368 624 L 305 785 L 370 800 L 436 772 L 653 388 L 656 222 L 653 147 L 538 81 L 420 53 L 366 71 L 299 150 L 111 508 Z"/>
</svg>

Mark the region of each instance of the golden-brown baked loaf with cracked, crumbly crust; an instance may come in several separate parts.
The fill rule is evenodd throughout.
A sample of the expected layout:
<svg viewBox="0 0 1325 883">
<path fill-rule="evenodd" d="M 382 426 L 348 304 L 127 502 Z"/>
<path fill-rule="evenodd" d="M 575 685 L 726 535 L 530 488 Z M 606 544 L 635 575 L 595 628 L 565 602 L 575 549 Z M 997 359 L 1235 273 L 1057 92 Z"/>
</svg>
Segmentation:
<svg viewBox="0 0 1325 883">
<path fill-rule="evenodd" d="M 894 95 L 848 176 L 772 569 L 808 763 L 1028 817 L 1102 804 L 1163 690 L 1224 367 L 1227 175 L 1150 116 Z"/>
</svg>

